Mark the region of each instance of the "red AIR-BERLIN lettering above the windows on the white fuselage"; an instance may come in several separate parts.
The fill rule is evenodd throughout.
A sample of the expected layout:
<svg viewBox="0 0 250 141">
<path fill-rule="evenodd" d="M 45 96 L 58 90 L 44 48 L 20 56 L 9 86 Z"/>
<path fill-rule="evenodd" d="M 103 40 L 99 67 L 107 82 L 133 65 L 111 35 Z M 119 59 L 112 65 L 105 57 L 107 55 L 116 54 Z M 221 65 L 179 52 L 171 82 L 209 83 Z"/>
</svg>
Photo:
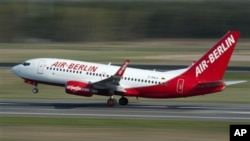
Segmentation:
<svg viewBox="0 0 250 141">
<path fill-rule="evenodd" d="M 95 72 L 98 69 L 98 66 L 94 65 L 75 64 L 75 63 L 60 62 L 60 61 L 53 63 L 51 67 L 76 70 L 76 71 L 89 71 L 89 72 Z"/>
</svg>

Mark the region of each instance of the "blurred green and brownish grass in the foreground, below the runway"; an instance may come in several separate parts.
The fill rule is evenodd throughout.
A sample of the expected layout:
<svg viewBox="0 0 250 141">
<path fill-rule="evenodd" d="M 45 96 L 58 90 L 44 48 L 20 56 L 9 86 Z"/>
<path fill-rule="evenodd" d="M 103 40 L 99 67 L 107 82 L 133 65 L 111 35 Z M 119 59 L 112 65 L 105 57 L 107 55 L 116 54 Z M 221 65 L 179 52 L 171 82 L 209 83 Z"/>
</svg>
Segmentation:
<svg viewBox="0 0 250 141">
<path fill-rule="evenodd" d="M 233 124 L 214 121 L 51 117 L 0 117 L 0 123 L 0 139 L 3 141 L 226 141 L 229 138 L 229 125 Z"/>
</svg>

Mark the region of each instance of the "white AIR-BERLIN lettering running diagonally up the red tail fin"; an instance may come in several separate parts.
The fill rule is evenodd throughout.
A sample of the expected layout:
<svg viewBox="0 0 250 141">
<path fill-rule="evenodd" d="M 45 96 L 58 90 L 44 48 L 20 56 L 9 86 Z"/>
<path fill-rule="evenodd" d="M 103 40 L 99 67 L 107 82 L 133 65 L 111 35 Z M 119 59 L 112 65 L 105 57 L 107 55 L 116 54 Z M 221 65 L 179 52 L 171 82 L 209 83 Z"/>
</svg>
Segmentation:
<svg viewBox="0 0 250 141">
<path fill-rule="evenodd" d="M 196 66 L 196 77 L 201 75 L 210 64 L 213 64 L 217 59 L 220 58 L 233 44 L 235 44 L 235 39 L 231 34 L 227 37 L 219 46 L 217 46 L 209 55 L 207 59 L 204 59 Z"/>
</svg>

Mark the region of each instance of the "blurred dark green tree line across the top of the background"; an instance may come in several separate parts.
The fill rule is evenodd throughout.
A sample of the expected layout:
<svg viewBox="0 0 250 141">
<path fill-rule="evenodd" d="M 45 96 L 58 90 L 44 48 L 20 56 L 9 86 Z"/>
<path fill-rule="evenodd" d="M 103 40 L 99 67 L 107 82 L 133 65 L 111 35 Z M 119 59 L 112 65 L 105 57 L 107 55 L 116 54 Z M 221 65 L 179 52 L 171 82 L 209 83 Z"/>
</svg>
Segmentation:
<svg viewBox="0 0 250 141">
<path fill-rule="evenodd" d="M 2 2 L 0 41 L 250 37 L 250 2 Z"/>
</svg>

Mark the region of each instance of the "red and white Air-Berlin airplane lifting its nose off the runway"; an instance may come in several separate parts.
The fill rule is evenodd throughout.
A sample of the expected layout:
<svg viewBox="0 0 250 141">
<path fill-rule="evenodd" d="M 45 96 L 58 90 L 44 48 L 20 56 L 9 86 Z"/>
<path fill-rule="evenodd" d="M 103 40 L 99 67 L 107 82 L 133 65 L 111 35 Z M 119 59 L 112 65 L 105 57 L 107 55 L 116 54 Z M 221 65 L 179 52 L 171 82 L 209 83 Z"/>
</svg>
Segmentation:
<svg viewBox="0 0 250 141">
<path fill-rule="evenodd" d="M 120 105 L 127 105 L 128 97 L 161 99 L 205 95 L 220 92 L 227 85 L 246 82 L 222 80 L 239 36 L 238 31 L 228 31 L 198 61 L 178 70 L 130 68 L 130 60 L 119 67 L 58 58 L 30 59 L 11 70 L 34 86 L 33 93 L 38 93 L 39 83 L 61 86 L 73 95 L 108 96 L 108 106 L 117 104 L 114 95 L 121 96 Z"/>
</svg>

